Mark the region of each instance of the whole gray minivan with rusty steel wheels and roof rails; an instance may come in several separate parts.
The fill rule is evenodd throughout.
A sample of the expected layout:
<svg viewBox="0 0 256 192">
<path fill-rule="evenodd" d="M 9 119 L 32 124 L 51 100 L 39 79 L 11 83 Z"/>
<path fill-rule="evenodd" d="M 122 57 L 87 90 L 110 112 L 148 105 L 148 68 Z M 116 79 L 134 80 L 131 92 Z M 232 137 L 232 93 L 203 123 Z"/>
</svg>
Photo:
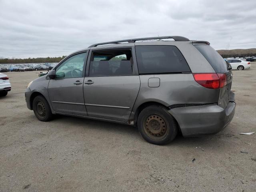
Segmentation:
<svg viewBox="0 0 256 192">
<path fill-rule="evenodd" d="M 129 124 L 162 145 L 179 131 L 213 134 L 230 123 L 236 107 L 230 69 L 206 41 L 120 40 L 70 54 L 30 82 L 25 96 L 41 121 L 62 114 Z"/>
</svg>

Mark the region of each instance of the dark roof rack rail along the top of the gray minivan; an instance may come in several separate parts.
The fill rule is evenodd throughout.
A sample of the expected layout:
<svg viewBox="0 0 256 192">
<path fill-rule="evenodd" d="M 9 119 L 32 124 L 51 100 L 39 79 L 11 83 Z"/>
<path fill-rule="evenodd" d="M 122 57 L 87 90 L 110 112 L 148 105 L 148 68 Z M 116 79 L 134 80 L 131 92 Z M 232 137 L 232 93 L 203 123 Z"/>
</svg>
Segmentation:
<svg viewBox="0 0 256 192">
<path fill-rule="evenodd" d="M 153 39 L 174 39 L 175 41 L 189 41 L 188 38 L 182 37 L 182 36 L 146 37 L 146 38 L 125 39 L 125 40 L 119 40 L 119 41 L 110 41 L 110 42 L 104 42 L 104 43 L 96 43 L 96 44 L 93 44 L 93 45 L 89 46 L 88 48 L 96 47 L 98 45 L 118 44 L 118 43 L 122 43 L 122 42 L 135 43 L 136 41 L 153 40 Z"/>
</svg>

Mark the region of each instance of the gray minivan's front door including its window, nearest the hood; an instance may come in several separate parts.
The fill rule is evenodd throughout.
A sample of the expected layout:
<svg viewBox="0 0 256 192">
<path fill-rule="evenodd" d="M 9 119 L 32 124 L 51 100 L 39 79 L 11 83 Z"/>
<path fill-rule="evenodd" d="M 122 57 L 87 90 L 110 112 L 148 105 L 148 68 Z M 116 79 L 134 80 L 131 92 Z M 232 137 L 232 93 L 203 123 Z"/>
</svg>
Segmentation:
<svg viewBox="0 0 256 192">
<path fill-rule="evenodd" d="M 67 58 L 56 68 L 56 78 L 48 84 L 48 94 L 56 112 L 87 116 L 84 105 L 84 71 L 87 52 Z"/>
</svg>

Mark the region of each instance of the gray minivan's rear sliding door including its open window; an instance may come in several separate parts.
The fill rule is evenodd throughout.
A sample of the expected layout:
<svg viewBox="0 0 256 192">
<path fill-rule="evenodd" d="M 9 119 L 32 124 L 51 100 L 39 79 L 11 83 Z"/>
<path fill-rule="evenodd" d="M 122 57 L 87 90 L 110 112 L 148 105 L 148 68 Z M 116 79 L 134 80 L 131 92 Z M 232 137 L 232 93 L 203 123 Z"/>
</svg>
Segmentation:
<svg viewBox="0 0 256 192">
<path fill-rule="evenodd" d="M 94 51 L 88 72 L 84 79 L 88 116 L 126 122 L 140 89 L 132 50 Z"/>
</svg>

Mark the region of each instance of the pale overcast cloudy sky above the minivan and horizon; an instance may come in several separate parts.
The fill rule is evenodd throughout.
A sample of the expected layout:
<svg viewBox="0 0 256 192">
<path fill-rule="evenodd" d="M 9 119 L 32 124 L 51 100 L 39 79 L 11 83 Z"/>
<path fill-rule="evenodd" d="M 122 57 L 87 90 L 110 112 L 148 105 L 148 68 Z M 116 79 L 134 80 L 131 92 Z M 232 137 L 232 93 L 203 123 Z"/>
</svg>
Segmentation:
<svg viewBox="0 0 256 192">
<path fill-rule="evenodd" d="M 256 0 L 0 0 L 0 57 L 68 55 L 126 38 L 185 36 L 256 48 Z"/>
</svg>

